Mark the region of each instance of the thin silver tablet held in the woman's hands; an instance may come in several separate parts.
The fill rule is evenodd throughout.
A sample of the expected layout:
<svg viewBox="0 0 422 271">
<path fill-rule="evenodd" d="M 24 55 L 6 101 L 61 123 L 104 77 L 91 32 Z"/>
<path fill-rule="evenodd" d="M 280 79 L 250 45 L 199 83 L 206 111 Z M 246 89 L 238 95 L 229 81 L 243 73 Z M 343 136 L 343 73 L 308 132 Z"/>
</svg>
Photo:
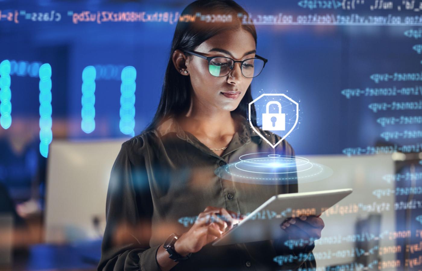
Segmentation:
<svg viewBox="0 0 422 271">
<path fill-rule="evenodd" d="M 278 239 L 286 234 L 280 224 L 288 217 L 321 215 L 338 201 L 352 193 L 352 189 L 336 189 L 272 196 L 260 207 L 226 231 L 213 246 Z"/>
</svg>

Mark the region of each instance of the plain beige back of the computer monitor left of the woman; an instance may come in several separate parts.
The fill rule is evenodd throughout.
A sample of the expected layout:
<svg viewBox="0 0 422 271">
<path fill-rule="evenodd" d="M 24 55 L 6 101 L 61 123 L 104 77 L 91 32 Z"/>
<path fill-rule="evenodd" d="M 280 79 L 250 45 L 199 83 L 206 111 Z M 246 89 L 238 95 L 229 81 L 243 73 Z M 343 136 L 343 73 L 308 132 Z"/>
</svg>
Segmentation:
<svg viewBox="0 0 422 271">
<path fill-rule="evenodd" d="M 46 243 L 102 238 L 110 172 L 126 140 L 51 142 L 47 161 Z"/>
</svg>

